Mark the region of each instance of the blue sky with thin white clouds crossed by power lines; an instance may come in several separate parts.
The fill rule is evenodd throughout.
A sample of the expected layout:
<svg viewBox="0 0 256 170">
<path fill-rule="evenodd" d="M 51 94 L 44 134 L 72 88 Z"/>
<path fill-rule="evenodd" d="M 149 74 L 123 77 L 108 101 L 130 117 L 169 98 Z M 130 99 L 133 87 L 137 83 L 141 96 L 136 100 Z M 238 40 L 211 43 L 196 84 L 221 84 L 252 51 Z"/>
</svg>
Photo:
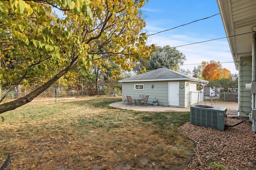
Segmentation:
<svg viewBox="0 0 256 170">
<path fill-rule="evenodd" d="M 177 47 L 180 53 L 186 56 L 184 65 L 180 68 L 191 72 L 194 66 L 202 61 L 220 61 L 222 68 L 230 70 L 231 74 L 238 73 L 233 63 L 232 54 L 224 31 L 220 12 L 216 0 L 148 0 L 142 8 L 144 20 L 146 21 L 147 35 L 171 29 L 192 21 L 196 21 L 169 31 L 148 36 L 148 45 Z M 211 39 L 218 39 L 208 41 Z M 197 43 L 208 41 L 204 43 Z M 194 45 L 187 45 L 197 43 Z M 231 63 L 226 63 L 231 62 Z"/>
</svg>

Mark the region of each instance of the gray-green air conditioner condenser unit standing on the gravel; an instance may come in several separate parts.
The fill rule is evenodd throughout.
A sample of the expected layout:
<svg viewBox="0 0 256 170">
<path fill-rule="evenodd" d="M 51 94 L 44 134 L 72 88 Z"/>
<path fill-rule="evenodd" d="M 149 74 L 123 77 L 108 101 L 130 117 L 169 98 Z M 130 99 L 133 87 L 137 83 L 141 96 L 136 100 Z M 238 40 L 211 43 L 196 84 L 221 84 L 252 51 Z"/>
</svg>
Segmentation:
<svg viewBox="0 0 256 170">
<path fill-rule="evenodd" d="M 224 131 L 227 121 L 226 107 L 190 106 L 190 123 Z"/>
</svg>

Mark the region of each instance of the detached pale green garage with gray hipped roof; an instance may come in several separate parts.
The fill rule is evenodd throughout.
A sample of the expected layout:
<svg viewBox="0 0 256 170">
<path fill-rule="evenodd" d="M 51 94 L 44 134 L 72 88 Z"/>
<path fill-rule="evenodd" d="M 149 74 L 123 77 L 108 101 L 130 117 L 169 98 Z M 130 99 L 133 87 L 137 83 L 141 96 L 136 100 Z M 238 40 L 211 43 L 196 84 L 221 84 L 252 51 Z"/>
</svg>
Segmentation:
<svg viewBox="0 0 256 170">
<path fill-rule="evenodd" d="M 188 107 L 196 102 L 202 102 L 206 80 L 181 74 L 168 68 L 158 68 L 143 74 L 119 80 L 122 82 L 122 100 L 124 94 L 138 97 L 139 94 L 149 96 L 148 103 L 158 100 L 158 105 L 173 107 Z M 199 92 L 190 99 L 190 92 Z"/>
</svg>

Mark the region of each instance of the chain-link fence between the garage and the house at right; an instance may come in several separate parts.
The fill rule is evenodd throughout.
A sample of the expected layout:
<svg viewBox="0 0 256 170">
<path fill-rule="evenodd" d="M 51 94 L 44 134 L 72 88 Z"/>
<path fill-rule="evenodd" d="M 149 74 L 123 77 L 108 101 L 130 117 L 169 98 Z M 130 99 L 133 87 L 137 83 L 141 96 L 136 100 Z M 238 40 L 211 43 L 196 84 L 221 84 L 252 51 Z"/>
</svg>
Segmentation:
<svg viewBox="0 0 256 170">
<path fill-rule="evenodd" d="M 238 108 L 238 93 L 237 92 L 190 92 L 190 106 L 206 105 L 226 107 L 228 110 L 235 110 Z"/>
</svg>

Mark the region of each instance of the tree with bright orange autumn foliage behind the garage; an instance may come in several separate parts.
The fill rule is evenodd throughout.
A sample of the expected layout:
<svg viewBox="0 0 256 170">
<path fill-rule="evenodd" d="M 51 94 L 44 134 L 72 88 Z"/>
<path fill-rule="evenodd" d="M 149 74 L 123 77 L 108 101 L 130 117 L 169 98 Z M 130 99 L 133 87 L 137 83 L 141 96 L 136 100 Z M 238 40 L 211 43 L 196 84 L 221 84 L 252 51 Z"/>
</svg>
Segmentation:
<svg viewBox="0 0 256 170">
<path fill-rule="evenodd" d="M 205 80 L 216 80 L 221 78 L 230 78 L 231 72 L 226 68 L 222 68 L 220 61 L 216 62 L 212 60 L 204 67 L 202 76 Z"/>
</svg>

